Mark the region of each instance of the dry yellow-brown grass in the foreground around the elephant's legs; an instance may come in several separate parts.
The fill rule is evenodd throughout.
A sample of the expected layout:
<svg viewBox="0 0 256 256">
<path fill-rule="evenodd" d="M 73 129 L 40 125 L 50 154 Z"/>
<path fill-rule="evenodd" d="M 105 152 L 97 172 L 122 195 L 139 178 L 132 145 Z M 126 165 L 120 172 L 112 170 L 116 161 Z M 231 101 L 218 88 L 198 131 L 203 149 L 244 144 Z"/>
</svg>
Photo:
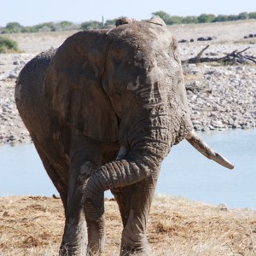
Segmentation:
<svg viewBox="0 0 256 256">
<path fill-rule="evenodd" d="M 121 220 L 106 201 L 106 253 L 118 255 Z M 61 201 L 0 198 L 0 255 L 57 255 L 64 225 Z M 255 255 L 256 212 L 156 196 L 148 222 L 152 255 Z"/>
</svg>

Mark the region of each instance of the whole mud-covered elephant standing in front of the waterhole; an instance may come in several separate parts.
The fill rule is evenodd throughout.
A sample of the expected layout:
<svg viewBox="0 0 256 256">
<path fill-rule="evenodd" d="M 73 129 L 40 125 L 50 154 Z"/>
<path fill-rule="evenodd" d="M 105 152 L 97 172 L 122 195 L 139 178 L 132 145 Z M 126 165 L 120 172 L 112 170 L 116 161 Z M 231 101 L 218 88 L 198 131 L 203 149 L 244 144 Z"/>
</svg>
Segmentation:
<svg viewBox="0 0 256 256">
<path fill-rule="evenodd" d="M 119 206 L 120 255 L 149 255 L 146 229 L 162 160 L 184 138 L 232 169 L 195 134 L 177 39 L 158 17 L 76 32 L 20 72 L 15 102 L 61 196 L 60 255 L 104 249 L 104 191 Z"/>
</svg>

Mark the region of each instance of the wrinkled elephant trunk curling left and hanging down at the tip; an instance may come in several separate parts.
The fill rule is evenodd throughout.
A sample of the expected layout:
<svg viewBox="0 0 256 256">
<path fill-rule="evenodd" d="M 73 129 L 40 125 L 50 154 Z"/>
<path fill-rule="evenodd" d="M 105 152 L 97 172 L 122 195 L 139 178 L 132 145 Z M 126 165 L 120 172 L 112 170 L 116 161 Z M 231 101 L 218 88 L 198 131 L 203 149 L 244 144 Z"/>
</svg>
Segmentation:
<svg viewBox="0 0 256 256">
<path fill-rule="evenodd" d="M 87 216 L 95 214 L 96 207 L 92 207 L 92 204 L 102 191 L 140 182 L 152 174 L 157 176 L 161 161 L 172 144 L 168 125 L 154 125 L 156 119 L 158 124 L 168 123 L 164 118 L 150 119 L 143 125 L 137 125 L 132 131 L 133 136 L 128 139 L 129 150 L 127 146 L 122 146 L 115 161 L 102 166 L 89 178 L 84 189 L 84 211 Z"/>
</svg>

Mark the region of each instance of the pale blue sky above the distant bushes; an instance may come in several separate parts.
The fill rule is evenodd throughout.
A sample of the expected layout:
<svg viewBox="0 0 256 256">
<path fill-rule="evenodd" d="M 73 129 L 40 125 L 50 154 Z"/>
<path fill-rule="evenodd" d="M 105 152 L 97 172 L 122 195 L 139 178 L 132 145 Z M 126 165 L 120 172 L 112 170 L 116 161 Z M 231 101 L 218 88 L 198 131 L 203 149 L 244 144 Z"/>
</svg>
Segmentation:
<svg viewBox="0 0 256 256">
<path fill-rule="evenodd" d="M 238 15 L 256 12 L 256 0 L 0 0 L 0 26 L 19 22 L 33 26 L 49 21 L 112 20 L 127 16 L 146 20 L 153 12 L 163 10 L 169 15 Z"/>
</svg>

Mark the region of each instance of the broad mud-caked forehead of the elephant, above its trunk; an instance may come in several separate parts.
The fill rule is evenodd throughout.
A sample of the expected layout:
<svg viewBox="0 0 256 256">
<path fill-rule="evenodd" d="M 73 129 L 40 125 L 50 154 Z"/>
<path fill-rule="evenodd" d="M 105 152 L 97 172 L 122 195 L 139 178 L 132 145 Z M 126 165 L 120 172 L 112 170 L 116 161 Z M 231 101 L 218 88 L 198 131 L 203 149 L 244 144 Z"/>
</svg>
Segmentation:
<svg viewBox="0 0 256 256">
<path fill-rule="evenodd" d="M 121 26 L 117 32 L 109 48 L 118 63 L 110 64 L 113 82 L 134 91 L 145 108 L 166 102 L 181 69 L 172 33 L 146 22 Z"/>
</svg>

